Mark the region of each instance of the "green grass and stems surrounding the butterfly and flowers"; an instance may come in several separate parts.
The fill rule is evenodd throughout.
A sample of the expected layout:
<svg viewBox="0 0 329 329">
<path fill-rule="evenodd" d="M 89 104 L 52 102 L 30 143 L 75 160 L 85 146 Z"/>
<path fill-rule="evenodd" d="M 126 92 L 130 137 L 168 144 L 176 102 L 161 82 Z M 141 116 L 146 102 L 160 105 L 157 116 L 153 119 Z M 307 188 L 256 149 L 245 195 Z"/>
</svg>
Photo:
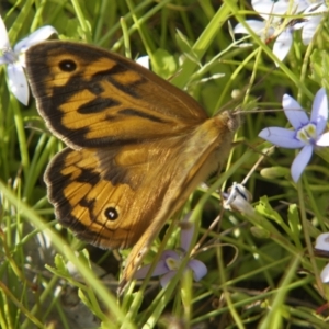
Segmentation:
<svg viewBox="0 0 329 329">
<path fill-rule="evenodd" d="M 104 254 L 81 246 L 54 220 L 43 173 L 64 146 L 45 127 L 33 99 L 23 106 L 10 93 L 0 66 L 1 328 L 328 327 L 328 308 L 316 313 L 329 298 L 319 277 L 326 262 L 313 248 L 329 226 L 328 148 L 316 150 L 296 184 L 290 173 L 295 150 L 269 148 L 257 137 L 264 127 L 288 127 L 284 93 L 309 112 L 316 91 L 329 91 L 326 20 L 308 46 L 296 31 L 287 58 L 276 67 L 273 42 L 251 34 L 243 38 L 250 46 L 242 47 L 232 38 L 231 25 L 253 14 L 243 0 L 8 0 L 1 1 L 0 13 L 12 46 L 53 25 L 64 41 L 132 58 L 148 54 L 152 69 L 198 100 L 209 115 L 243 111 L 225 173 L 214 175 L 209 189 L 195 191 L 183 208 L 193 209 L 194 240 L 201 241 L 193 258 L 207 265 L 207 275 L 195 283 L 181 266 L 166 288 L 152 277 L 133 282 L 118 297 L 117 260 L 128 252 Z M 218 189 L 247 175 L 252 213 L 224 209 Z M 208 230 L 217 216 L 220 227 Z M 179 236 L 172 220 L 145 262 L 180 246 Z"/>
</svg>

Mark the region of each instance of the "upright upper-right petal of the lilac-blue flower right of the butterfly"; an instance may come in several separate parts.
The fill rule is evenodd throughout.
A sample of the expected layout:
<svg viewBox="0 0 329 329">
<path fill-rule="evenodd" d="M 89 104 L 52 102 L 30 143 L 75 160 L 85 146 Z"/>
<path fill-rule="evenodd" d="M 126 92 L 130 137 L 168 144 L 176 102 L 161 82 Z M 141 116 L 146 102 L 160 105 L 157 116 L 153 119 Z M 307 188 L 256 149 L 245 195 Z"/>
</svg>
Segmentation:
<svg viewBox="0 0 329 329">
<path fill-rule="evenodd" d="M 326 93 L 326 89 L 321 88 L 317 94 L 315 95 L 310 121 L 316 124 L 317 135 L 320 135 L 327 125 L 328 120 L 328 98 Z"/>
</svg>

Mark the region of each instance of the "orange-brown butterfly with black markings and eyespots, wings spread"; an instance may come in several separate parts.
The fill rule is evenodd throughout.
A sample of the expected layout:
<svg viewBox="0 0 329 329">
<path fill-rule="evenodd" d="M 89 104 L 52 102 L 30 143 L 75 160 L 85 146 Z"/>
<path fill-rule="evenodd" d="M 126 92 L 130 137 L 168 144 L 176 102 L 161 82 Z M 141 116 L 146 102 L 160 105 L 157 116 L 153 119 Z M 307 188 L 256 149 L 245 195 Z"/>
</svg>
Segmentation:
<svg viewBox="0 0 329 329">
<path fill-rule="evenodd" d="M 94 246 L 133 247 L 122 290 L 166 220 L 226 158 L 239 116 L 209 118 L 151 71 L 84 44 L 37 44 L 26 71 L 38 112 L 68 146 L 45 173 L 56 217 Z"/>
</svg>

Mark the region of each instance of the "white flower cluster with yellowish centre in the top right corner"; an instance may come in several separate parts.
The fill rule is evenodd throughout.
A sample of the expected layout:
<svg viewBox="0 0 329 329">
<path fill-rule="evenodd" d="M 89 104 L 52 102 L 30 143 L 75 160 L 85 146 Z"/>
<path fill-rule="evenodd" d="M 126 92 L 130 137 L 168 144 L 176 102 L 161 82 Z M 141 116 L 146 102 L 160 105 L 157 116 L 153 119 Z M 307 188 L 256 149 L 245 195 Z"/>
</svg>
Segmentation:
<svg viewBox="0 0 329 329">
<path fill-rule="evenodd" d="M 308 45 L 324 13 L 328 11 L 324 1 L 313 3 L 308 0 L 252 0 L 251 4 L 264 21 L 247 20 L 246 24 L 264 42 L 276 38 L 273 45 L 273 54 L 280 60 L 286 57 L 292 47 L 293 32 L 303 29 L 302 39 L 304 45 Z M 303 19 L 284 19 L 284 15 L 300 13 L 303 13 Z M 241 23 L 236 25 L 234 32 L 249 34 Z"/>
</svg>

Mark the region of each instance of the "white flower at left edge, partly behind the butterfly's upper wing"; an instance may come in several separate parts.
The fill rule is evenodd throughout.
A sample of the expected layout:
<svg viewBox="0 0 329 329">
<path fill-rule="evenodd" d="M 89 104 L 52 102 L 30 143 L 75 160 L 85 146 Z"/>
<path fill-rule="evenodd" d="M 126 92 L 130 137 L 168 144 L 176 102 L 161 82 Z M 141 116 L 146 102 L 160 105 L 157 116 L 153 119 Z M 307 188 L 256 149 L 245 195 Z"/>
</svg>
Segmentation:
<svg viewBox="0 0 329 329">
<path fill-rule="evenodd" d="M 29 103 L 29 84 L 24 73 L 24 52 L 52 34 L 57 33 L 53 26 L 44 26 L 20 41 L 12 49 L 9 43 L 7 29 L 0 16 L 0 65 L 7 65 L 9 89 L 24 105 Z"/>
</svg>

